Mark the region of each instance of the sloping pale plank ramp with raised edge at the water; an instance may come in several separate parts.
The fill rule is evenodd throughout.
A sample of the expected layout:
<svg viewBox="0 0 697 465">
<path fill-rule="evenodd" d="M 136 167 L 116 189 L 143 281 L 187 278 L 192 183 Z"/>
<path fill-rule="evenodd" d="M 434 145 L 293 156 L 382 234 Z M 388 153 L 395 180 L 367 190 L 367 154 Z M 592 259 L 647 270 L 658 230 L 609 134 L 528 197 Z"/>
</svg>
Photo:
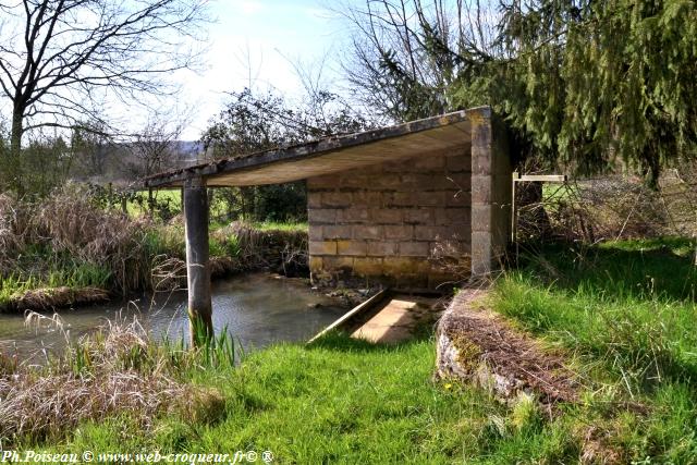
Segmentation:
<svg viewBox="0 0 697 465">
<path fill-rule="evenodd" d="M 328 326 L 308 343 L 332 330 L 376 343 L 402 342 L 411 339 L 417 325 L 436 311 L 436 302 L 433 297 L 380 291 Z"/>
</svg>

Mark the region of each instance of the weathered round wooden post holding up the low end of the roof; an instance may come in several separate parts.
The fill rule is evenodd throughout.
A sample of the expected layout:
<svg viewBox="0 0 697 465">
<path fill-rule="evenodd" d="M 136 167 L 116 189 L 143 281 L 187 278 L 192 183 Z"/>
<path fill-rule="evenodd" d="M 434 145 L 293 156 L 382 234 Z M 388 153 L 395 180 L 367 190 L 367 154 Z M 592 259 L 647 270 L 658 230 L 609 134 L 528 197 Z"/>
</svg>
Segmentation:
<svg viewBox="0 0 697 465">
<path fill-rule="evenodd" d="M 208 195 L 203 178 L 185 182 L 183 207 L 191 342 L 192 345 L 200 345 L 213 335 L 208 262 Z"/>
</svg>

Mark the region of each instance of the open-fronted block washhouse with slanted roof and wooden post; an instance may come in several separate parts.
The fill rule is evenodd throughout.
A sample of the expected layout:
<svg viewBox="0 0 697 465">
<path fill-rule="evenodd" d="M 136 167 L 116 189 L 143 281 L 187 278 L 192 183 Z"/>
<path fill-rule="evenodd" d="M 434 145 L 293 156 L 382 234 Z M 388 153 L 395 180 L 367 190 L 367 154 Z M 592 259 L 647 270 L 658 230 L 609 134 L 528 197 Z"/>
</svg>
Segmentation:
<svg viewBox="0 0 697 465">
<path fill-rule="evenodd" d="M 433 290 L 489 273 L 510 236 L 511 158 L 489 107 L 173 170 L 145 187 L 184 191 L 194 314 L 210 308 L 206 188 L 298 180 L 314 281 Z"/>
</svg>

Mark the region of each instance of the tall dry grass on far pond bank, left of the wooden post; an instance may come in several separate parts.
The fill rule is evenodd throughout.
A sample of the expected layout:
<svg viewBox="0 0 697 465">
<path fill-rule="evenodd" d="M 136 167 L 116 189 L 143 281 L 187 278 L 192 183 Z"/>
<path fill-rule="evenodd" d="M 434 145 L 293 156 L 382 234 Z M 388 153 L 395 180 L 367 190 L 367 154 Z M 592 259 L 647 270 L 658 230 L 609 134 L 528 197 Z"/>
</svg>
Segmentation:
<svg viewBox="0 0 697 465">
<path fill-rule="evenodd" d="M 76 184 L 33 203 L 0 195 L 0 298 L 57 286 L 149 289 L 156 257 L 183 255 L 174 229 L 107 209 Z"/>
</svg>

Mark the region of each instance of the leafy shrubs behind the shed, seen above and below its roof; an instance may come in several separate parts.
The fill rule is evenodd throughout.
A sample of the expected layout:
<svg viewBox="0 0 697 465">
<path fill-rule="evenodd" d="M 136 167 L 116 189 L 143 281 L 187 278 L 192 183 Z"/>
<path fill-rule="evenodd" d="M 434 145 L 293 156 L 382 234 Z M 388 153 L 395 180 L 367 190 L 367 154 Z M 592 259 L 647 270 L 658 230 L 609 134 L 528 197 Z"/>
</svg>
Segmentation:
<svg viewBox="0 0 697 465">
<path fill-rule="evenodd" d="M 212 158 L 240 157 L 366 127 L 367 121 L 331 93 L 291 106 L 279 95 L 244 89 L 231 94 L 201 142 Z M 306 201 L 304 182 L 213 191 L 213 205 L 222 205 L 228 221 L 304 221 Z"/>
</svg>

